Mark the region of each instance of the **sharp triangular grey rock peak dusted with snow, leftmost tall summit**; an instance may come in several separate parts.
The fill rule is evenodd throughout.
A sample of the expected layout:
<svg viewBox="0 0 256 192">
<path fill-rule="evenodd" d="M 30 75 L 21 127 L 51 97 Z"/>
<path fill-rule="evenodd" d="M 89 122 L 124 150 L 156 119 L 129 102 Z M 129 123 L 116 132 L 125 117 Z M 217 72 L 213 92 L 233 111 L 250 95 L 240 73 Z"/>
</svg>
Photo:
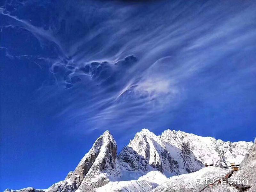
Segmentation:
<svg viewBox="0 0 256 192">
<path fill-rule="evenodd" d="M 68 183 L 75 183 L 76 188 L 85 191 L 106 184 L 109 175 L 120 173 L 116 166 L 116 151 L 116 141 L 109 131 L 105 131 L 67 179 Z"/>
</svg>

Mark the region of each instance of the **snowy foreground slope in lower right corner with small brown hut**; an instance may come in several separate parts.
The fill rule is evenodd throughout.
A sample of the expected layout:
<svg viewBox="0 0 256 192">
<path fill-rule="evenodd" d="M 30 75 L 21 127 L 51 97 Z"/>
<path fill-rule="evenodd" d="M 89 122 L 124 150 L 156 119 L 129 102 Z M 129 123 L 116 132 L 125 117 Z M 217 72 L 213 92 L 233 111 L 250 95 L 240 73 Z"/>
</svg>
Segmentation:
<svg viewBox="0 0 256 192">
<path fill-rule="evenodd" d="M 232 184 L 215 183 L 208 185 L 205 183 L 197 184 L 196 178 L 209 178 L 210 184 L 214 178 L 226 179 L 234 181 Z M 237 179 L 246 179 L 247 183 L 236 182 Z M 255 192 L 256 191 L 256 143 L 249 149 L 249 152 L 244 157 L 244 160 L 239 166 L 238 172 L 232 171 L 230 168 L 221 169 L 220 167 L 209 166 L 200 169 L 197 172 L 182 174 L 179 176 L 172 176 L 162 182 L 152 192 Z"/>
</svg>

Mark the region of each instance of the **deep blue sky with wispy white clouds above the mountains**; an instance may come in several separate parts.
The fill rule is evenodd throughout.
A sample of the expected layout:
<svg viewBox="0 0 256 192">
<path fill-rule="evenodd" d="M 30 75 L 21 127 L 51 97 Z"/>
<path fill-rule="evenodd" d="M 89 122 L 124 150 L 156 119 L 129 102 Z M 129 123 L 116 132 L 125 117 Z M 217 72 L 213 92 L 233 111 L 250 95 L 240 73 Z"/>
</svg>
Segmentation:
<svg viewBox="0 0 256 192">
<path fill-rule="evenodd" d="M 254 1 L 0 6 L 1 191 L 63 180 L 105 130 L 254 140 Z"/>
</svg>

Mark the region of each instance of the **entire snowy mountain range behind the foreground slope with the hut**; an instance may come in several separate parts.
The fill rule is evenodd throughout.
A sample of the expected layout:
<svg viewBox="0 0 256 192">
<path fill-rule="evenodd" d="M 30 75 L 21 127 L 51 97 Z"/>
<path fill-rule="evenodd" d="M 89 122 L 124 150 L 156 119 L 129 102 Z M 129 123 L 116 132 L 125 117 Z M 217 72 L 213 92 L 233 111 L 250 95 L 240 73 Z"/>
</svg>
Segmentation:
<svg viewBox="0 0 256 192">
<path fill-rule="evenodd" d="M 166 176 L 192 174 L 204 163 L 240 164 L 251 146 L 252 142 L 224 142 L 181 131 L 166 130 L 156 136 L 143 129 L 117 155 L 116 141 L 106 131 L 65 180 L 40 192 L 151 191 Z"/>
</svg>

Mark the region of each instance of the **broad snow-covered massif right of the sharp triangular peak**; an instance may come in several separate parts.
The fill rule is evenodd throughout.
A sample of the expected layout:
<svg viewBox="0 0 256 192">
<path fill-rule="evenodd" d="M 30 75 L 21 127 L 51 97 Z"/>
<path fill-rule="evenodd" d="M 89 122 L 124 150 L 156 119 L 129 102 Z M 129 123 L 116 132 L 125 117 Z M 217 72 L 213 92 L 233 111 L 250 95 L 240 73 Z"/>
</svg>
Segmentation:
<svg viewBox="0 0 256 192">
<path fill-rule="evenodd" d="M 156 136 L 147 129 L 138 132 L 128 145 L 151 167 L 166 175 L 195 172 L 204 163 L 219 167 L 240 164 L 251 146 L 252 142 L 224 142 L 174 130 Z"/>
</svg>

